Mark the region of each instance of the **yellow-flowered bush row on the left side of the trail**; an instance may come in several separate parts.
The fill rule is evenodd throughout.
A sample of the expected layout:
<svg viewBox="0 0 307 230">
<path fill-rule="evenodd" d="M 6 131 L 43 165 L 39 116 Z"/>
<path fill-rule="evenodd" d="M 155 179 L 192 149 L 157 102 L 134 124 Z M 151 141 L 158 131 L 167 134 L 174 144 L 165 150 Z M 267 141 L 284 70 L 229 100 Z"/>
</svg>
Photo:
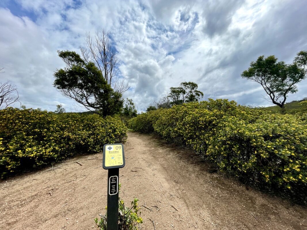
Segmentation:
<svg viewBox="0 0 307 230">
<path fill-rule="evenodd" d="M 52 113 L 39 109 L 0 110 L 0 175 L 58 161 L 74 153 L 103 151 L 126 140 L 119 117 Z"/>
</svg>

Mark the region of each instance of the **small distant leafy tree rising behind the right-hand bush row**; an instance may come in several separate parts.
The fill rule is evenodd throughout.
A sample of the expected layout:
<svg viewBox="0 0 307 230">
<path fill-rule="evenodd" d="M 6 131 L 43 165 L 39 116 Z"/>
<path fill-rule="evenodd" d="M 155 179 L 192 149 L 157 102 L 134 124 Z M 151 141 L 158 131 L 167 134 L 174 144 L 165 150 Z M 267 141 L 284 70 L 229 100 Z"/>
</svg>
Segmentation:
<svg viewBox="0 0 307 230">
<path fill-rule="evenodd" d="M 198 85 L 195 82 L 181 82 L 179 87 L 171 87 L 171 92 L 168 95 L 171 100 L 171 105 L 197 102 L 204 96 L 197 88 Z"/>
</svg>

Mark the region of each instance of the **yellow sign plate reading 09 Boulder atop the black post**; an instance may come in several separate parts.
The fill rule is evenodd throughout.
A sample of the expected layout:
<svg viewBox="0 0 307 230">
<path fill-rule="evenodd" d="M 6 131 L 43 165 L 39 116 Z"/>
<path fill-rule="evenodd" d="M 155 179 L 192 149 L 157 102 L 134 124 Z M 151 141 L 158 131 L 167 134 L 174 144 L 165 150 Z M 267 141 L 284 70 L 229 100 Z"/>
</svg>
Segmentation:
<svg viewBox="0 0 307 230">
<path fill-rule="evenodd" d="M 122 144 L 105 144 L 103 146 L 102 166 L 104 169 L 124 167 L 124 146 Z"/>
</svg>

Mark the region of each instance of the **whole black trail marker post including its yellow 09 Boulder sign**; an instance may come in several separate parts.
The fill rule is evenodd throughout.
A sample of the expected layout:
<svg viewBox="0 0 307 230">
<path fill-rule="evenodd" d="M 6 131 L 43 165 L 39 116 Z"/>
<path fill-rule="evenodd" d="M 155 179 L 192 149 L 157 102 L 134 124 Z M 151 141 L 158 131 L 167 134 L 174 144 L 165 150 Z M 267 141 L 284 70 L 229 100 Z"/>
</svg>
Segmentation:
<svg viewBox="0 0 307 230">
<path fill-rule="evenodd" d="M 108 170 L 107 230 L 118 230 L 119 168 L 125 166 L 124 146 L 105 144 L 102 167 Z"/>
</svg>

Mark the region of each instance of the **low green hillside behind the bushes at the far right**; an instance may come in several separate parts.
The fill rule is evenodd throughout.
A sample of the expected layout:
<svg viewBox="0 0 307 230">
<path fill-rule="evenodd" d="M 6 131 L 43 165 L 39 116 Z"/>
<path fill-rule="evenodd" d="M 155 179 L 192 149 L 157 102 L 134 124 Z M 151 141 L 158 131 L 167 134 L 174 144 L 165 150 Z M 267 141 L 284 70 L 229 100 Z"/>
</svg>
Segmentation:
<svg viewBox="0 0 307 230">
<path fill-rule="evenodd" d="M 307 103 L 301 103 L 307 100 L 292 101 L 285 104 L 285 109 L 280 108 L 278 105 L 264 107 L 261 109 L 270 110 L 275 113 L 298 113 L 307 112 Z"/>
</svg>

